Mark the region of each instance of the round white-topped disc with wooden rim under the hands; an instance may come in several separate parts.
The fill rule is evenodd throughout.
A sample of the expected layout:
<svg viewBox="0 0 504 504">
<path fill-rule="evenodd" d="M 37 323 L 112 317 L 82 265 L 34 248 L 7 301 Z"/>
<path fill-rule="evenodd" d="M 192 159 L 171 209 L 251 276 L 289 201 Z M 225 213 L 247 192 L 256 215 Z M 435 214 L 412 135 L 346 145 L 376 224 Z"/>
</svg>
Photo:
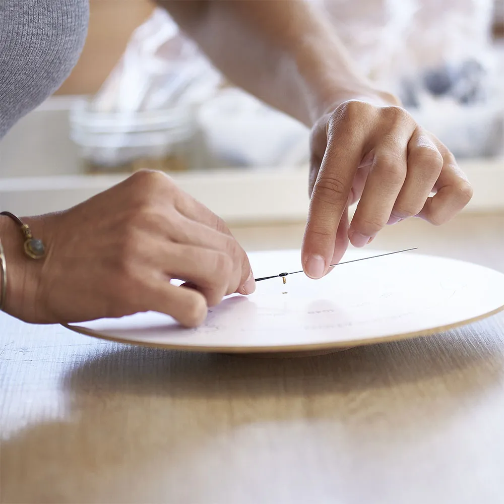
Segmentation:
<svg viewBox="0 0 504 504">
<path fill-rule="evenodd" d="M 342 261 L 373 256 L 349 250 Z M 249 255 L 256 277 L 300 268 L 299 250 Z M 146 346 L 222 353 L 326 352 L 427 336 L 504 309 L 504 274 L 452 259 L 406 252 L 339 265 L 321 280 L 303 273 L 257 283 L 209 310 L 196 329 L 147 312 L 67 326 Z"/>
</svg>

